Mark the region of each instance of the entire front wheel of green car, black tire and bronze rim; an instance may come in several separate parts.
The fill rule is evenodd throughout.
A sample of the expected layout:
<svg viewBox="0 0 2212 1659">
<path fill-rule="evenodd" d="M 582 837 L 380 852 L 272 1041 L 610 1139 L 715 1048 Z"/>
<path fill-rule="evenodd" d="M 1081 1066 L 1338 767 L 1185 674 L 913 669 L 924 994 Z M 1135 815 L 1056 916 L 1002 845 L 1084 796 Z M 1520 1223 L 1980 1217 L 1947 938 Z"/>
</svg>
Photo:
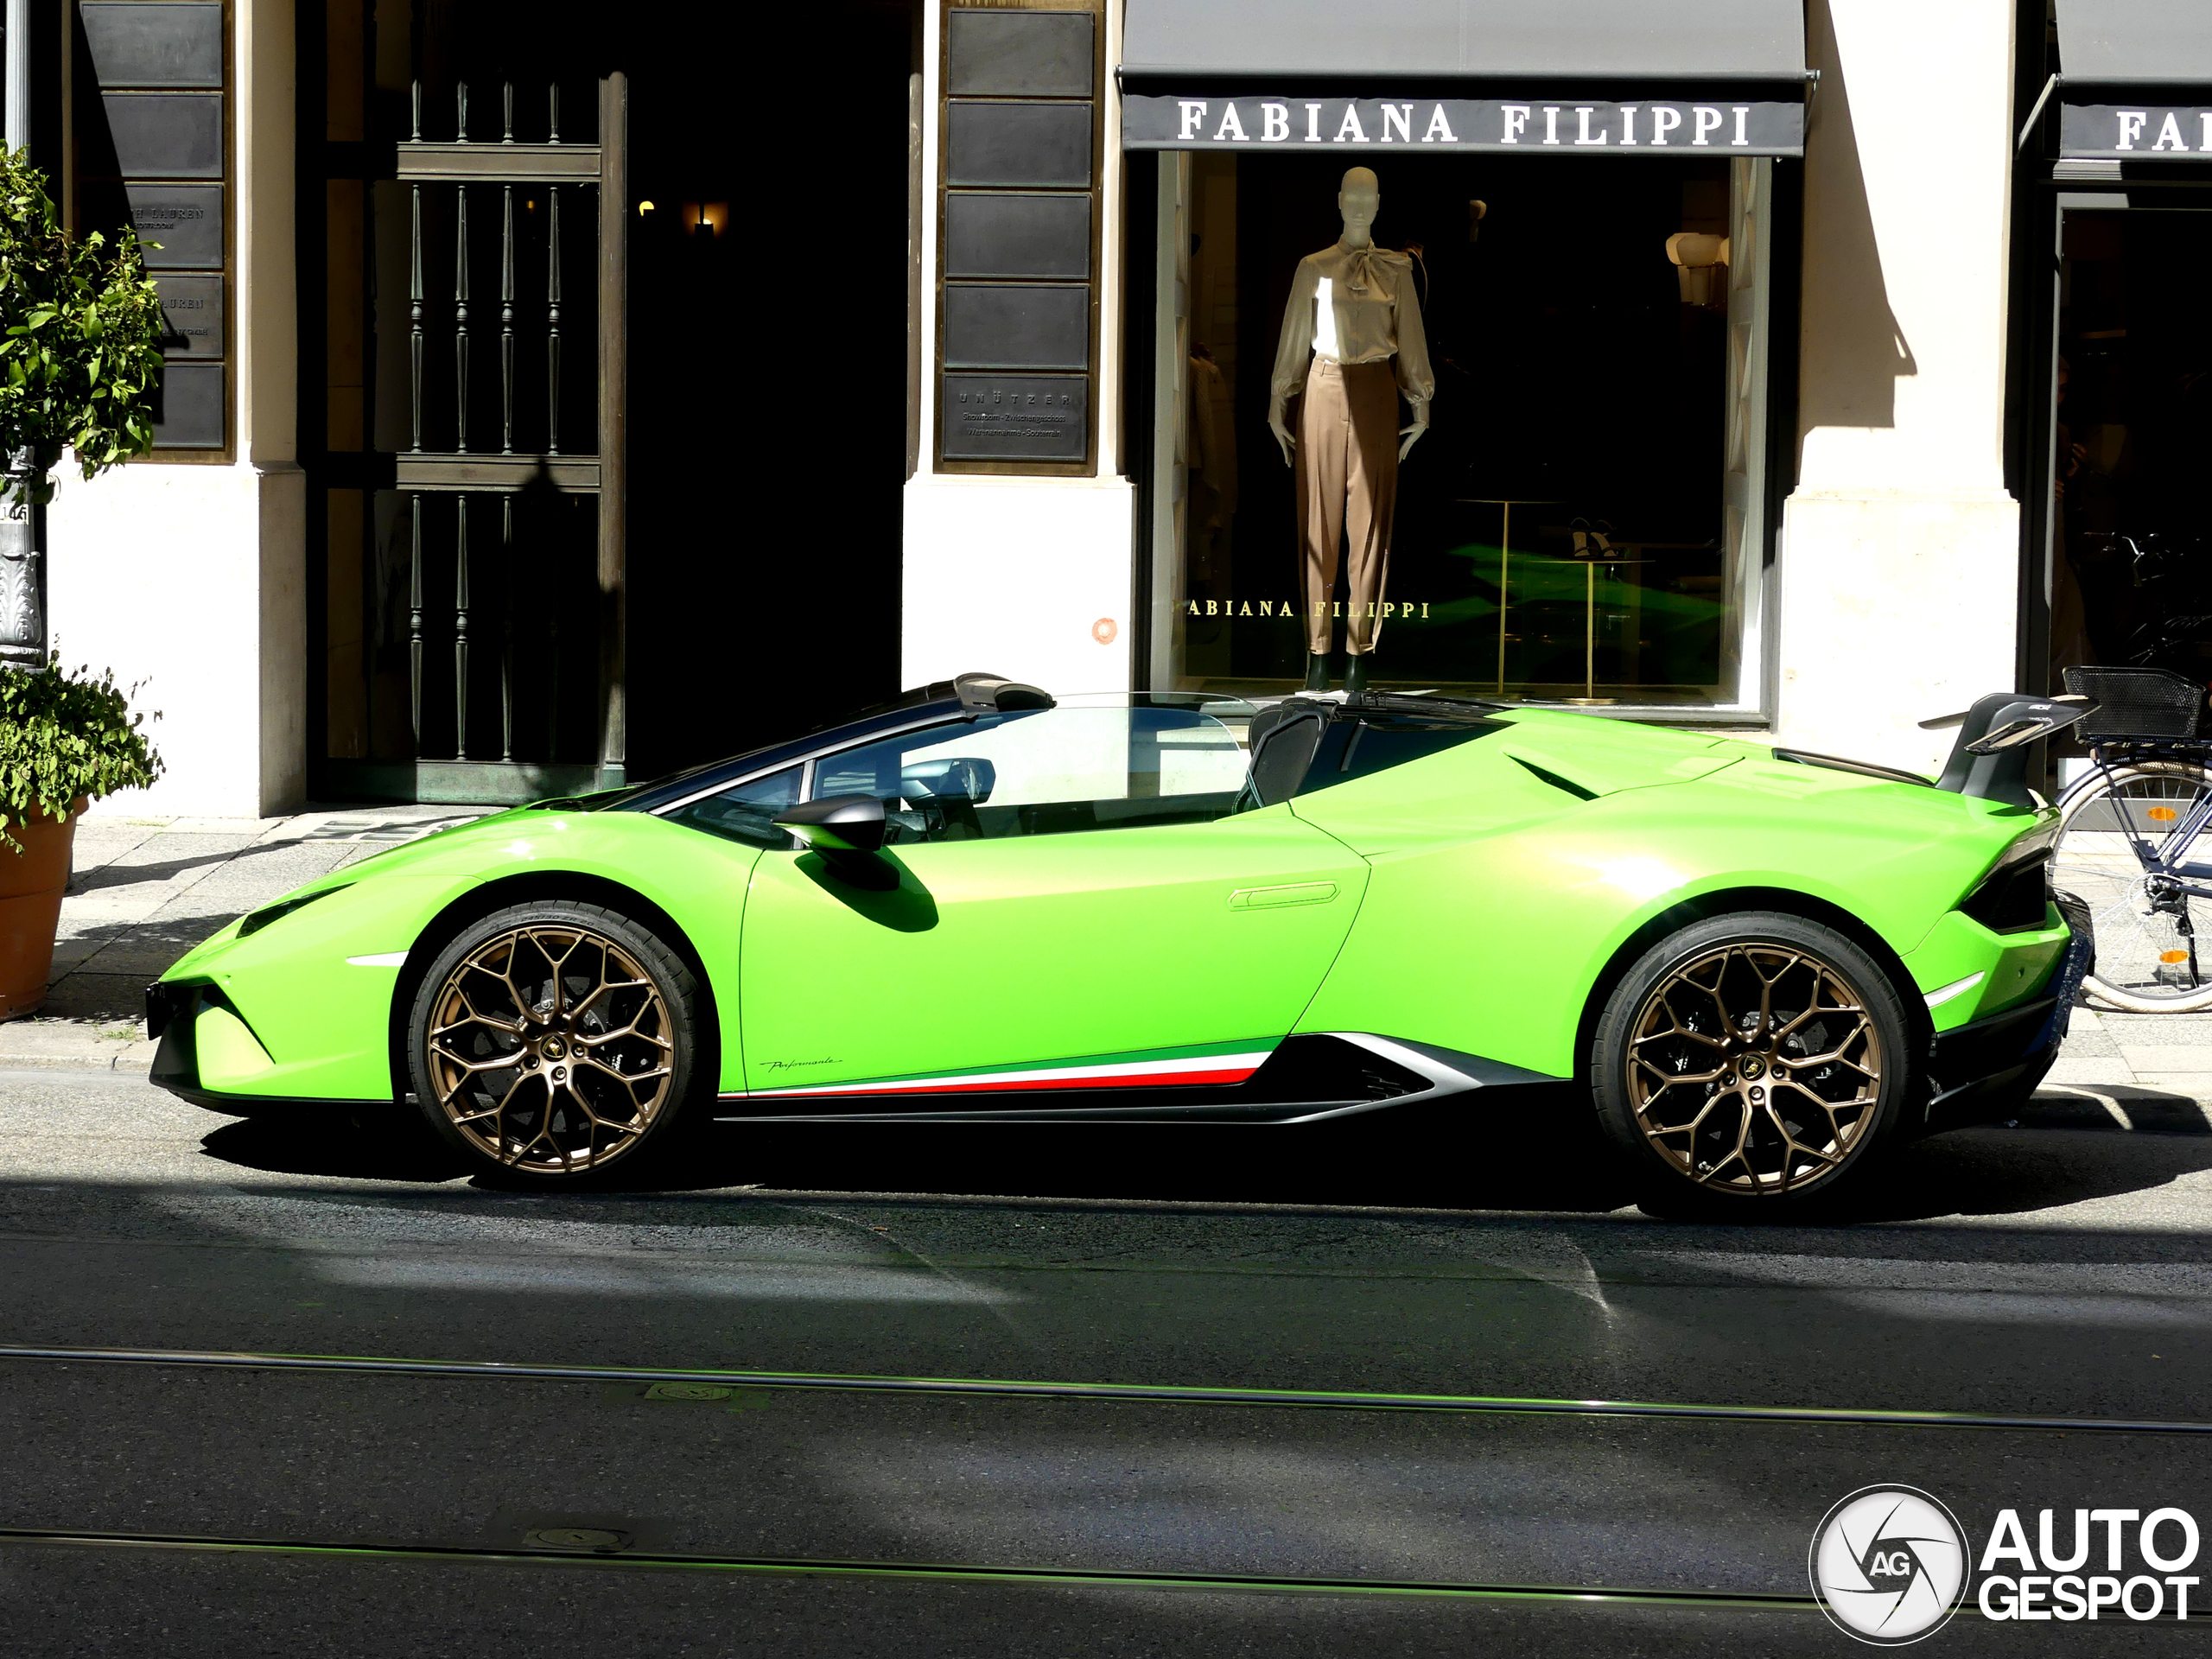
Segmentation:
<svg viewBox="0 0 2212 1659">
<path fill-rule="evenodd" d="M 438 1137 L 484 1175 L 635 1179 L 675 1146 L 699 1079 L 712 1086 L 701 1004 L 650 927 L 602 905 L 513 905 L 429 964 L 407 1015 L 407 1079 Z"/>
</svg>

